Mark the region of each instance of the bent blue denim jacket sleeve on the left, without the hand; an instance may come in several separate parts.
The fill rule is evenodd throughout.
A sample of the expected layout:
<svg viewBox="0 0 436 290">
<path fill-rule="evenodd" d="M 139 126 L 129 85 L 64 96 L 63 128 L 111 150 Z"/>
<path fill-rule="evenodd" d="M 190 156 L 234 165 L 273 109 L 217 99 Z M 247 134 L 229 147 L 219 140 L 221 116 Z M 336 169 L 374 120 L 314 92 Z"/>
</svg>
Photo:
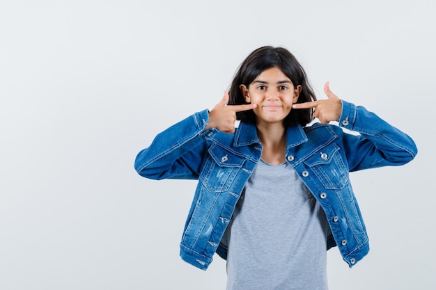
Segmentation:
<svg viewBox="0 0 436 290">
<path fill-rule="evenodd" d="M 204 128 L 208 110 L 189 116 L 157 134 L 134 162 L 139 175 L 150 179 L 198 179 L 206 150 Z"/>
</svg>

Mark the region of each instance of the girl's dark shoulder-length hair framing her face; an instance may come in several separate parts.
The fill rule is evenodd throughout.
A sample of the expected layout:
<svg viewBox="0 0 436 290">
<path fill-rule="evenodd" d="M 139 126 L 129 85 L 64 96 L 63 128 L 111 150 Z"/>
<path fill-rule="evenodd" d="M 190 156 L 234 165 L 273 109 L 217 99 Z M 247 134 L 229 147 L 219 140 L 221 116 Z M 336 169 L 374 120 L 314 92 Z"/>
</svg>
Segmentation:
<svg viewBox="0 0 436 290">
<path fill-rule="evenodd" d="M 299 64 L 295 56 L 287 49 L 282 47 L 260 47 L 251 52 L 249 56 L 242 62 L 238 71 L 233 78 L 231 88 L 229 90 L 228 104 L 239 105 L 248 104 L 244 98 L 241 85 L 249 88 L 251 83 L 259 74 L 272 67 L 278 67 L 285 74 L 293 86 L 301 86 L 301 92 L 297 103 L 315 101 L 316 96 L 313 93 L 309 81 L 306 78 L 306 73 L 303 67 Z M 256 124 L 256 115 L 254 111 L 242 111 L 236 113 L 238 120 L 246 123 Z M 285 126 L 308 124 L 313 120 L 313 111 L 310 108 L 290 110 L 290 113 L 283 120 Z"/>
</svg>

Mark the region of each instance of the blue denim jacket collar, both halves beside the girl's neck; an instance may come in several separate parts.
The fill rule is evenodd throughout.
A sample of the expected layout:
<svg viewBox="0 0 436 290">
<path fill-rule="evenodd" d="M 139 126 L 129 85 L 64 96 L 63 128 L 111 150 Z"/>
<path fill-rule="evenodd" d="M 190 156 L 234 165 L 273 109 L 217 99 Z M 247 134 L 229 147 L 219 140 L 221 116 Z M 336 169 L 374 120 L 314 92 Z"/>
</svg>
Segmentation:
<svg viewBox="0 0 436 290">
<path fill-rule="evenodd" d="M 286 149 L 295 147 L 307 141 L 307 136 L 301 125 L 297 124 L 286 129 Z M 240 122 L 235 131 L 235 139 L 233 146 L 247 146 L 251 144 L 260 144 L 258 139 L 257 129 L 255 124 L 247 124 Z"/>
</svg>

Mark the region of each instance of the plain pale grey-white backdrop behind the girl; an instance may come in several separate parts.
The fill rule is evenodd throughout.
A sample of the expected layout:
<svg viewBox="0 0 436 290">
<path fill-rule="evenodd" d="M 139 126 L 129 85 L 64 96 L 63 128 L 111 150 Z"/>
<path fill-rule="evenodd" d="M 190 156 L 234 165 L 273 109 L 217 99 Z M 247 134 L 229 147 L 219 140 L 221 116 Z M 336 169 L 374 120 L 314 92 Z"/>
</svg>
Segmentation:
<svg viewBox="0 0 436 290">
<path fill-rule="evenodd" d="M 319 99 L 410 134 L 353 172 L 371 251 L 330 289 L 436 289 L 435 1 L 0 1 L 0 289 L 224 289 L 178 255 L 194 181 L 144 179 L 153 137 L 212 108 L 254 49 L 286 47 Z M 317 271 L 313 269 L 313 271 Z"/>
</svg>

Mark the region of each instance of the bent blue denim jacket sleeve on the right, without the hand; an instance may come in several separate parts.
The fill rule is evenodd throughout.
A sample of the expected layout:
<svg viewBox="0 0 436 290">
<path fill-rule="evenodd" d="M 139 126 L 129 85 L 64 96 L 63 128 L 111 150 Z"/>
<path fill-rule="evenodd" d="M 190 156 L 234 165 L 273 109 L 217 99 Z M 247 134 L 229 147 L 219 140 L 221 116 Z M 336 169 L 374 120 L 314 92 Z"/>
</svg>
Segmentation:
<svg viewBox="0 0 436 290">
<path fill-rule="evenodd" d="M 359 135 L 344 134 L 350 171 L 400 166 L 414 159 L 417 148 L 410 136 L 391 126 L 363 106 L 342 101 L 339 125 Z"/>
</svg>

